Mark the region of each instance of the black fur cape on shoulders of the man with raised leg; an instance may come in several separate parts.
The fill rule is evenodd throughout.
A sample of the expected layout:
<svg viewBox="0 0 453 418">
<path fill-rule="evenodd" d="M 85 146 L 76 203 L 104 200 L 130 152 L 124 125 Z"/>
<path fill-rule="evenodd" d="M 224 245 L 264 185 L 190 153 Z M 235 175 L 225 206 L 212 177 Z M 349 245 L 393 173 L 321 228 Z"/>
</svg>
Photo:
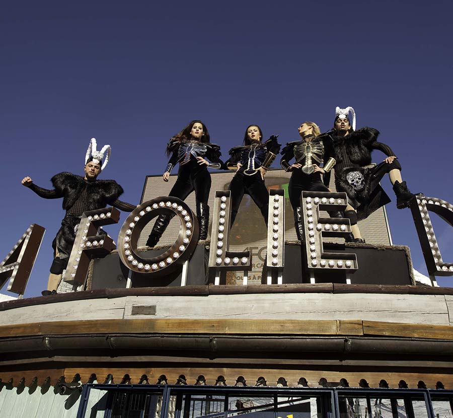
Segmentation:
<svg viewBox="0 0 453 418">
<path fill-rule="evenodd" d="M 350 160 L 360 167 L 371 164 L 371 144 L 378 140 L 379 130 L 365 126 L 350 132 L 346 136 L 333 136 L 334 147 L 344 147 Z M 342 162 L 340 153 L 336 153 L 337 163 Z"/>
</svg>

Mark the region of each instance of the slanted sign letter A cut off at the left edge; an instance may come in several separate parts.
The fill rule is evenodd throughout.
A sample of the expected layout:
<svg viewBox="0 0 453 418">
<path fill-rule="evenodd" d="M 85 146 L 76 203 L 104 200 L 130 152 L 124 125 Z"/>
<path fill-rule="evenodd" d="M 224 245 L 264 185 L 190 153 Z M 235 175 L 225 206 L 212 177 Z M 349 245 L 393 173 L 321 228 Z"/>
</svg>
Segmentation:
<svg viewBox="0 0 453 418">
<path fill-rule="evenodd" d="M 11 277 L 7 290 L 18 295 L 24 294 L 45 231 L 37 224 L 30 225 L 25 231 L 0 263 L 0 288 Z"/>
</svg>

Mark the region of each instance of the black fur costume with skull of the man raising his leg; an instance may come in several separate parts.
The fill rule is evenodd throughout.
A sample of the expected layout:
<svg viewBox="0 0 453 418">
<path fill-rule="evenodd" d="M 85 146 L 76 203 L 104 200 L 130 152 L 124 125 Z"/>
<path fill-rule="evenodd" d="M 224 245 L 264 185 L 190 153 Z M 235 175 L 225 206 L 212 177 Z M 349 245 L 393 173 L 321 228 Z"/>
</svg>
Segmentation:
<svg viewBox="0 0 453 418">
<path fill-rule="evenodd" d="M 357 210 L 358 220 L 367 218 L 391 201 L 379 182 L 391 170 L 401 170 L 396 159 L 390 164 L 384 161 L 371 168 L 364 167 L 371 164 L 373 150 L 380 150 L 388 157 L 395 155 L 389 146 L 376 141 L 378 135 L 378 130 L 363 127 L 345 136 L 331 136 L 337 160 L 334 166 L 335 185 L 337 191 L 347 193 L 349 203 Z M 357 190 L 347 180 L 351 172 L 358 172 L 357 177 L 361 175 L 361 189 Z"/>
</svg>

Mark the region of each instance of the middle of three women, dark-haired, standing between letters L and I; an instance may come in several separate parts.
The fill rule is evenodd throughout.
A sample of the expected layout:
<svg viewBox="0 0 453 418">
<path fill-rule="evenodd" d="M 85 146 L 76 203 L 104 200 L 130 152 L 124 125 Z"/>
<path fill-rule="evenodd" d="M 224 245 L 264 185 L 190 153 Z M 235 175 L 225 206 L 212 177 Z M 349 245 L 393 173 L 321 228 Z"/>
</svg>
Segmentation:
<svg viewBox="0 0 453 418">
<path fill-rule="evenodd" d="M 244 145 L 230 150 L 230 159 L 225 163 L 228 169 L 236 169 L 230 183 L 232 210 L 231 227 L 238 214 L 244 193 L 250 195 L 258 206 L 267 225 L 269 192 L 264 184 L 264 175 L 280 151 L 277 136 L 272 135 L 261 142 L 263 133 L 258 125 L 250 125 L 244 134 Z"/>
</svg>

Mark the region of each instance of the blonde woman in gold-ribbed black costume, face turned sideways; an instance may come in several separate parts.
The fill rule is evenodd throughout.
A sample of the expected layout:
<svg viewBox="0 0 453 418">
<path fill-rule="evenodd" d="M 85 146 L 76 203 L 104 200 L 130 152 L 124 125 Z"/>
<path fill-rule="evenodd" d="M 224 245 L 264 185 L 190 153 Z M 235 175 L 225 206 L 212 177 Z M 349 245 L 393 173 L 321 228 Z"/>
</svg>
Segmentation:
<svg viewBox="0 0 453 418">
<path fill-rule="evenodd" d="M 319 126 L 315 122 L 304 122 L 298 128 L 302 141 L 292 141 L 286 144 L 281 154 L 281 167 L 291 172 L 288 192 L 292 210 L 294 211 L 294 227 L 297 238 L 304 239 L 304 216 L 300 207 L 300 194 L 302 191 L 330 191 L 327 187 L 330 181 L 330 170 L 335 164 L 332 157 L 334 151 L 330 138 L 320 135 Z M 289 161 L 295 159 L 294 164 Z M 316 163 L 324 164 L 319 167 Z M 321 180 L 324 175 L 324 183 Z M 332 218 L 344 218 L 341 212 L 331 212 Z"/>
</svg>

